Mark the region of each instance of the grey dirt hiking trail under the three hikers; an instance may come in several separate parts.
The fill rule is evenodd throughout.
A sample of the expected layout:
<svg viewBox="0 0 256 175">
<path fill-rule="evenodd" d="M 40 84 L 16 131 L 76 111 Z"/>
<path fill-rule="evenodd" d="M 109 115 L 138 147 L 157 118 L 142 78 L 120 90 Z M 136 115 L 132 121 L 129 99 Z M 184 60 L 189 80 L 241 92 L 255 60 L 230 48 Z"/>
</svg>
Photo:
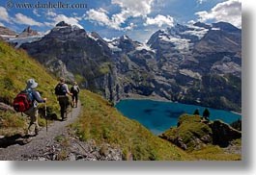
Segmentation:
<svg viewBox="0 0 256 175">
<path fill-rule="evenodd" d="M 68 118 L 65 121 L 54 121 L 46 127 L 43 127 L 36 137 L 29 137 L 21 139 L 19 144 L 12 144 L 6 148 L 0 147 L 0 160 L 1 161 L 27 161 L 33 160 L 47 151 L 49 147 L 54 148 L 54 139 L 68 133 L 67 126 L 77 119 L 81 111 L 81 104 L 77 108 L 72 108 L 68 113 Z"/>
</svg>

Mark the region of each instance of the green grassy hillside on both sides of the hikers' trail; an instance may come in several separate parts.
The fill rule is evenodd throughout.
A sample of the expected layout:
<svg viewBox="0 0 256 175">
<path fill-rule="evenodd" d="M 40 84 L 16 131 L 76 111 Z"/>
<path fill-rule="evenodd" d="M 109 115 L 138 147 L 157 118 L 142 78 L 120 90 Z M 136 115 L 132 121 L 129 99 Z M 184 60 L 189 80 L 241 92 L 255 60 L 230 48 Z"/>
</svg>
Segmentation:
<svg viewBox="0 0 256 175">
<path fill-rule="evenodd" d="M 34 78 L 39 83 L 37 89 L 48 99 L 49 113 L 58 112 L 53 94 L 57 81 L 24 51 L 0 42 L 0 75 L 0 101 L 12 104 L 16 93 L 26 86 L 26 80 Z M 135 160 L 190 160 L 183 150 L 124 117 L 99 95 L 83 90 L 80 96 L 83 110 L 73 128 L 81 139 L 93 138 L 98 143 L 104 141 L 121 146 L 127 160 L 131 154 Z M 40 107 L 43 109 L 43 105 Z M 14 135 L 20 129 L 26 129 L 25 117 L 20 113 L 0 111 L 0 135 Z"/>
</svg>

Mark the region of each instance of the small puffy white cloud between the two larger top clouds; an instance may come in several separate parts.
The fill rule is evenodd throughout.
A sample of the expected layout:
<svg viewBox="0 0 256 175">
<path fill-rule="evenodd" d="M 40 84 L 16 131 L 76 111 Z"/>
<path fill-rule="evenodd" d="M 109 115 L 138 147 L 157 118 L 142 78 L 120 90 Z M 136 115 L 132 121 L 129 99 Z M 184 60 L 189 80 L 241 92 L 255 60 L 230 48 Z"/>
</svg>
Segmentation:
<svg viewBox="0 0 256 175">
<path fill-rule="evenodd" d="M 174 18 L 170 15 L 164 16 L 161 14 L 157 14 L 155 18 L 147 17 L 146 22 L 144 23 L 145 26 L 148 25 L 157 25 L 161 27 L 163 25 L 173 26 Z"/>
</svg>

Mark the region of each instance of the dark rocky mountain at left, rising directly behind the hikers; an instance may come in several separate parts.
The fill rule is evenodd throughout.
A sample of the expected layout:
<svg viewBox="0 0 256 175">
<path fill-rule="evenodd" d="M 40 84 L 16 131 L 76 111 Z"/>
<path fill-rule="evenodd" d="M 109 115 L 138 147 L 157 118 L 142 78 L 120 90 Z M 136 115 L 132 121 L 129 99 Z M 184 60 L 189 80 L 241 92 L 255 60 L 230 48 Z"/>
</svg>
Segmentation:
<svg viewBox="0 0 256 175">
<path fill-rule="evenodd" d="M 38 41 L 22 44 L 28 54 L 58 77 L 116 100 L 116 69 L 107 44 L 99 36 L 60 22 Z"/>
</svg>

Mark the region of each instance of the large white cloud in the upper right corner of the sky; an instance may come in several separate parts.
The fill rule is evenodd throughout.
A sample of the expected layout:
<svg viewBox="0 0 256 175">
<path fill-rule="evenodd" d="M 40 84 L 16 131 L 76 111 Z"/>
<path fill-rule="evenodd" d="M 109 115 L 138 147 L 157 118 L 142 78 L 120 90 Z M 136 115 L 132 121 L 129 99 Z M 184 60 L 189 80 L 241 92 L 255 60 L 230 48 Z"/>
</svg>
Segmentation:
<svg viewBox="0 0 256 175">
<path fill-rule="evenodd" d="M 195 14 L 203 22 L 208 20 L 224 21 L 242 28 L 242 0 L 228 0 L 217 4 L 211 12 L 203 11 Z"/>
</svg>

